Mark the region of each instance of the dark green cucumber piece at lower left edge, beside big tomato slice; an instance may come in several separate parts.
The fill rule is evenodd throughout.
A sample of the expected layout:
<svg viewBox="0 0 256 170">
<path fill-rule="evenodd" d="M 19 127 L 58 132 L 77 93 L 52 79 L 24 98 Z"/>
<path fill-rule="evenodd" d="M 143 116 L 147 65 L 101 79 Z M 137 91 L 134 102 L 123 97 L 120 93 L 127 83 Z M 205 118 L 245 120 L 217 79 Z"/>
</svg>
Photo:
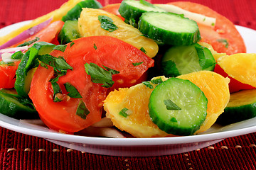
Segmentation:
<svg viewBox="0 0 256 170">
<path fill-rule="evenodd" d="M 31 101 L 15 94 L 7 94 L 3 90 L 0 91 L 0 113 L 17 119 L 39 118 Z"/>
</svg>

